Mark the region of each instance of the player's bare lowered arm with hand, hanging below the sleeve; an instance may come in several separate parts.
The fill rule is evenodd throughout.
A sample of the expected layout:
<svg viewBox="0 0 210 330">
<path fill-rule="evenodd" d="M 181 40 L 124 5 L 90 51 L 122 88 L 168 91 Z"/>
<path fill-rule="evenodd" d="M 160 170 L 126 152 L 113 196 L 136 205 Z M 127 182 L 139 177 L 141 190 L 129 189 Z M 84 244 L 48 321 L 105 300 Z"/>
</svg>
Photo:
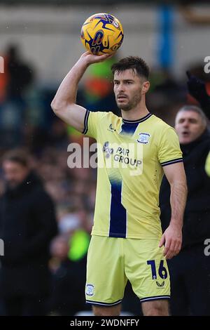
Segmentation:
<svg viewBox="0 0 210 330">
<path fill-rule="evenodd" d="M 165 245 L 164 256 L 171 259 L 181 250 L 183 213 L 188 189 L 183 163 L 164 166 L 163 169 L 171 187 L 172 218 L 169 227 L 162 235 L 159 246 Z"/>
</svg>

